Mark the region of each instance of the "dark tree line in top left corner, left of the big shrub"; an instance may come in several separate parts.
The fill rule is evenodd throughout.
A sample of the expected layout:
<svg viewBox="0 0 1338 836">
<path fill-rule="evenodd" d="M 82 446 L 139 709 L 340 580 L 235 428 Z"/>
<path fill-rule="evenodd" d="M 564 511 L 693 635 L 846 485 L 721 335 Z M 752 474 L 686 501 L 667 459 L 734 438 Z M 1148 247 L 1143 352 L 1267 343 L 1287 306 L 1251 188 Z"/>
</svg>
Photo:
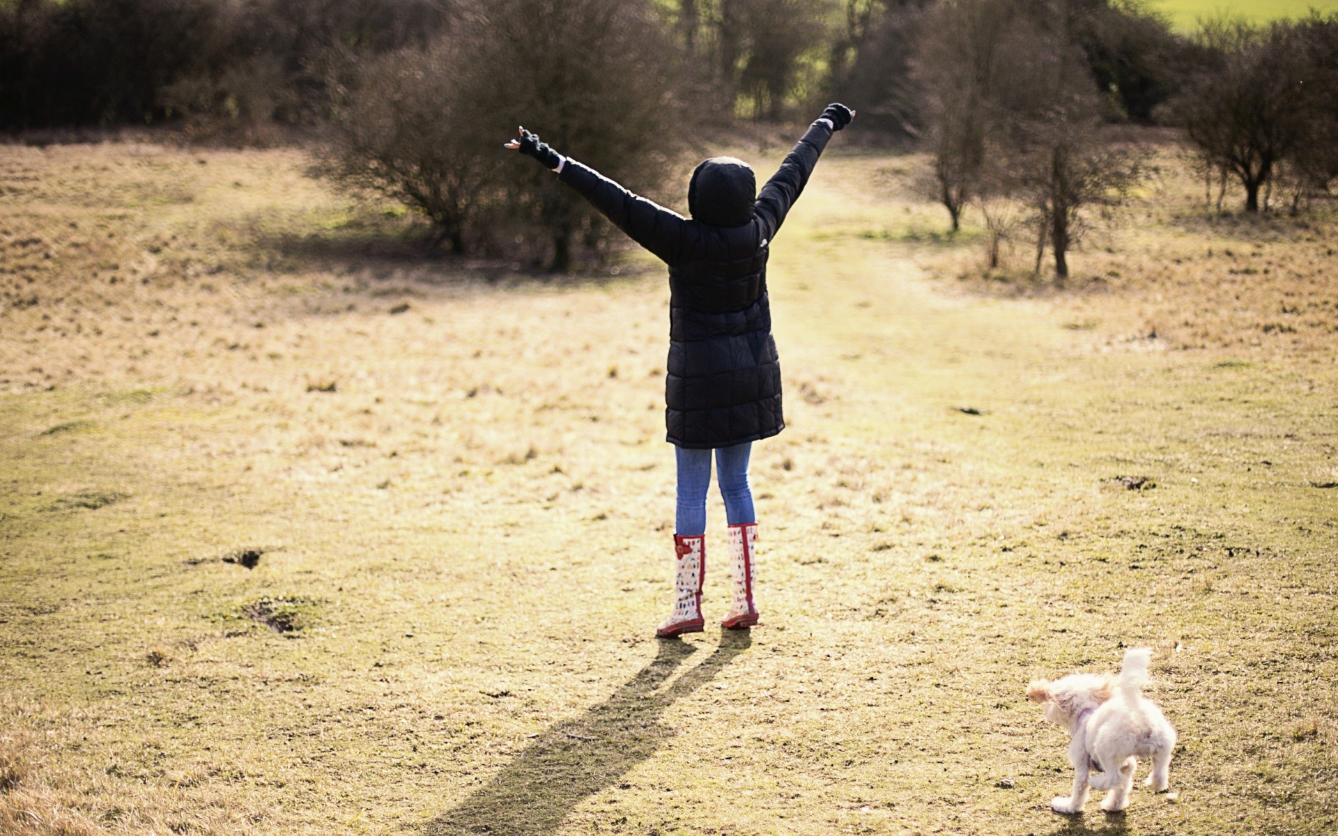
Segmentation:
<svg viewBox="0 0 1338 836">
<path fill-rule="evenodd" d="M 0 0 L 0 130 L 318 120 L 349 55 L 427 43 L 452 15 L 448 0 Z"/>
</svg>

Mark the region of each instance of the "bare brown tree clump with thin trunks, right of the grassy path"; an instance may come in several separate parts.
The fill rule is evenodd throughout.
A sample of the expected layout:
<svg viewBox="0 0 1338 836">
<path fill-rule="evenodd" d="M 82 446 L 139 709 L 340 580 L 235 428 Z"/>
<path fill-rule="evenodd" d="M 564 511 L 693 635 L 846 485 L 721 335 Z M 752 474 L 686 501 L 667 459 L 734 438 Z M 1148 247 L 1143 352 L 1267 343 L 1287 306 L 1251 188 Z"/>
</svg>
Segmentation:
<svg viewBox="0 0 1338 836">
<path fill-rule="evenodd" d="M 1094 211 L 1119 205 L 1140 155 L 1103 140 L 1104 100 L 1078 51 L 1068 0 L 946 0 L 927 21 L 918 76 L 927 91 L 938 199 L 957 229 L 987 201 L 990 261 L 1020 199 L 1034 211 L 1037 270 L 1049 249 L 1056 284 Z"/>
</svg>

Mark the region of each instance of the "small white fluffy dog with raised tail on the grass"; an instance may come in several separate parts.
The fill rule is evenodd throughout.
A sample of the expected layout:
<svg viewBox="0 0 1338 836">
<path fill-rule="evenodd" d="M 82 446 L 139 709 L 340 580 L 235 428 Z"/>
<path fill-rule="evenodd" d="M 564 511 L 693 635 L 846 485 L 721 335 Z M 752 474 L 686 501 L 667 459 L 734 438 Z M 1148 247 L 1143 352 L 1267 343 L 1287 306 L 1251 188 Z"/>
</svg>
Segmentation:
<svg viewBox="0 0 1338 836">
<path fill-rule="evenodd" d="M 1167 770 L 1175 749 L 1175 729 L 1161 709 L 1143 698 L 1152 651 L 1133 649 L 1124 654 L 1120 678 L 1111 674 L 1076 673 L 1054 682 L 1037 680 L 1026 696 L 1045 705 L 1045 718 L 1064 726 L 1073 738 L 1073 795 L 1050 801 L 1057 813 L 1081 813 L 1088 787 L 1109 789 L 1101 809 L 1117 812 L 1129 805 L 1133 770 L 1140 757 L 1152 758 L 1145 787 L 1167 788 Z"/>
</svg>

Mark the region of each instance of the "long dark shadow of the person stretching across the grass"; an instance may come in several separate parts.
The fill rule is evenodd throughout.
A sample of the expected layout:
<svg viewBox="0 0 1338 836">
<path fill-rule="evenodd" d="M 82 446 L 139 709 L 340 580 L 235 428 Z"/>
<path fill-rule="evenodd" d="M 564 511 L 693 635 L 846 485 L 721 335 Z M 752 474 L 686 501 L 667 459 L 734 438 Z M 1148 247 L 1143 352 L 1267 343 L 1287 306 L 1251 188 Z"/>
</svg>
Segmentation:
<svg viewBox="0 0 1338 836">
<path fill-rule="evenodd" d="M 539 734 L 491 781 L 429 821 L 424 833 L 551 833 L 582 800 L 617 782 L 673 737 L 674 730 L 660 722 L 665 709 L 751 645 L 747 630 L 724 633 L 709 658 L 657 690 L 696 653 L 680 641 L 661 642 L 654 661 L 609 700 Z"/>
</svg>

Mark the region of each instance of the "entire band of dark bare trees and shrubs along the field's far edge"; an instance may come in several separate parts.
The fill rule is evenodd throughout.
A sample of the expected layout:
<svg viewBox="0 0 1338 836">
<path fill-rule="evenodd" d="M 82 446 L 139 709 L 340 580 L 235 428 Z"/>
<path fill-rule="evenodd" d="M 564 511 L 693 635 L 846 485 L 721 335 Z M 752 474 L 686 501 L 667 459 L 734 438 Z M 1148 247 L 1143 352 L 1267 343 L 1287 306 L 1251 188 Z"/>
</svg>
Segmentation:
<svg viewBox="0 0 1338 836">
<path fill-rule="evenodd" d="M 1026 229 L 1054 274 L 1141 152 L 1184 130 L 1247 211 L 1338 178 L 1338 15 L 1172 32 L 1140 0 L 0 0 L 0 130 L 302 124 L 317 169 L 403 201 L 456 251 L 557 269 L 607 226 L 498 154 L 516 124 L 654 193 L 702 126 L 828 96 L 866 138 L 931 152 L 955 230 Z"/>
</svg>

